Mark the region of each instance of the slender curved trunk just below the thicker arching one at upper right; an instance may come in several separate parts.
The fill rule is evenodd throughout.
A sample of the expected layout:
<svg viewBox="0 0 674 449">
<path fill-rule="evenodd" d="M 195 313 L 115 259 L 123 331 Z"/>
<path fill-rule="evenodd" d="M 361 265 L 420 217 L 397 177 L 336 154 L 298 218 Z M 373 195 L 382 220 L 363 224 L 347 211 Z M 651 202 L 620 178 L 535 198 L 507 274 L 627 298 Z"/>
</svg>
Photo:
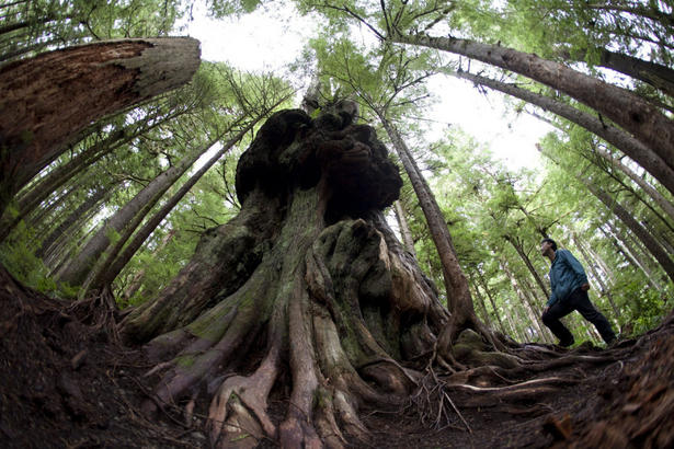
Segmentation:
<svg viewBox="0 0 674 449">
<path fill-rule="evenodd" d="M 462 71 L 457 72 L 455 76 L 535 104 L 545 111 L 564 117 L 569 122 L 587 129 L 630 157 L 674 195 L 674 168 L 672 162 L 667 163 L 662 157 L 621 129 L 607 125 L 603 120 L 573 106 L 558 102 L 549 96 L 517 88 L 514 84 Z"/>
</svg>

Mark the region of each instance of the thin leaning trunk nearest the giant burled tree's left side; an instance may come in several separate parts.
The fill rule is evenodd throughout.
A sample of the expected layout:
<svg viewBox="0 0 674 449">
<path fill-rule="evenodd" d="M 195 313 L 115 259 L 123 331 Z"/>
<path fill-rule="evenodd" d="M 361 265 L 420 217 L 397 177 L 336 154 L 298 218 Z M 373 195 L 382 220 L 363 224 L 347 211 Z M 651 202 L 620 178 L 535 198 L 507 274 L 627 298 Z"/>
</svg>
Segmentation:
<svg viewBox="0 0 674 449">
<path fill-rule="evenodd" d="M 260 117 L 261 118 L 261 117 Z M 167 200 L 167 203 L 144 225 L 144 227 L 136 232 L 134 239 L 122 251 L 126 239 L 119 239 L 115 243 L 113 249 L 106 252 L 104 262 L 99 264 L 98 269 L 92 270 L 91 280 L 82 289 L 102 289 L 103 287 L 112 284 L 117 277 L 126 264 L 132 260 L 134 254 L 142 246 L 142 243 L 155 231 L 155 229 L 161 223 L 161 221 L 173 210 L 175 205 L 185 196 L 187 192 L 196 184 L 198 180 L 225 154 L 227 153 L 238 141 L 240 141 L 247 133 L 259 122 L 251 120 L 243 129 L 241 129 L 235 137 L 229 139 L 222 148 L 210 158 L 199 170 L 197 170 L 190 179 L 178 189 L 178 192 Z M 123 241 L 124 240 L 124 241 Z"/>
</svg>

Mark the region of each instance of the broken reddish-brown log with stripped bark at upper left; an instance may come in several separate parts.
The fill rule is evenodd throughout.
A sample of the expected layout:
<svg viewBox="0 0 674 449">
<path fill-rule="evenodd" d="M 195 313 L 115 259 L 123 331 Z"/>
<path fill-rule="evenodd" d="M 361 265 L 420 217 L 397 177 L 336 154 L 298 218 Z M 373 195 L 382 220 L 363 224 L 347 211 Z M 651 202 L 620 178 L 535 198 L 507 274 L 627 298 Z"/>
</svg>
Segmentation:
<svg viewBox="0 0 674 449">
<path fill-rule="evenodd" d="M 189 37 L 100 42 L 0 68 L 0 215 L 91 122 L 190 81 Z"/>
</svg>

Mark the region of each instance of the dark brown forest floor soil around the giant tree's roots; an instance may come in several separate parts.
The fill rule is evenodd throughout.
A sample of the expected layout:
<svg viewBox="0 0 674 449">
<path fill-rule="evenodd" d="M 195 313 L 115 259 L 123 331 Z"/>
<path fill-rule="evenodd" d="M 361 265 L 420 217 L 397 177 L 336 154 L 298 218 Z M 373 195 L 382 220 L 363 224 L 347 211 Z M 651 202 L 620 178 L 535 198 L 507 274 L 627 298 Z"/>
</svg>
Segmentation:
<svg viewBox="0 0 674 449">
<path fill-rule="evenodd" d="M 209 447 L 203 431 L 207 404 L 197 404 L 190 423 L 171 411 L 146 419 L 140 403 L 152 382 L 144 378 L 151 366 L 142 353 L 84 324 L 87 316 L 67 306 L 16 284 L 0 267 L 0 447 Z M 468 393 L 457 391 L 450 394 L 458 413 L 447 415 L 444 428 L 422 424 L 409 410 L 363 411 L 374 438 L 351 447 L 672 447 L 671 318 L 609 350 L 573 349 L 612 357 L 590 369 L 560 369 L 556 376 L 581 375 L 583 381 L 521 403 L 517 413 L 465 406 Z M 272 415 L 285 410 L 271 408 Z"/>
</svg>

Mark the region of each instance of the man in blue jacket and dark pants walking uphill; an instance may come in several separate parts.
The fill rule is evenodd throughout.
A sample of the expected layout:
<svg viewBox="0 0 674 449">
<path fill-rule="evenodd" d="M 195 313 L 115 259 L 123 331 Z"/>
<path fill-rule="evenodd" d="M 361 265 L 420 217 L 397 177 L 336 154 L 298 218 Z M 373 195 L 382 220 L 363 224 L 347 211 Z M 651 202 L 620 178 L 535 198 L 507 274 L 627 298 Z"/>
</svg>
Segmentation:
<svg viewBox="0 0 674 449">
<path fill-rule="evenodd" d="M 581 263 L 569 251 L 558 250 L 552 239 L 544 239 L 540 242 L 540 253 L 552 263 L 550 266 L 552 292 L 542 312 L 542 323 L 559 338 L 559 345 L 567 347 L 573 344 L 573 335 L 559 319 L 574 310 L 594 324 L 604 342 L 610 345 L 616 339 L 616 334 L 610 329 L 608 320 L 590 302 L 587 297 L 590 284 Z"/>
</svg>

